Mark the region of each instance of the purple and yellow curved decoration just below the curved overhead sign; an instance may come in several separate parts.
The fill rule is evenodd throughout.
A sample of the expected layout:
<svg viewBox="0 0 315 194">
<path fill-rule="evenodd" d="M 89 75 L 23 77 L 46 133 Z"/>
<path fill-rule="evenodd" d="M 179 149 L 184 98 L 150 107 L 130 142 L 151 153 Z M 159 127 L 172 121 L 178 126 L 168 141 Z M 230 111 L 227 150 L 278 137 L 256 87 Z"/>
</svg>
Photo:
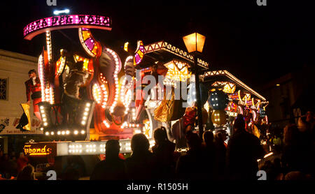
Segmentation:
<svg viewBox="0 0 315 194">
<path fill-rule="evenodd" d="M 95 57 L 99 53 L 99 50 L 101 50 L 100 44 L 93 38 L 90 29 L 79 28 L 78 31 L 80 42 L 85 52 L 87 52 L 90 57 Z"/>
</svg>

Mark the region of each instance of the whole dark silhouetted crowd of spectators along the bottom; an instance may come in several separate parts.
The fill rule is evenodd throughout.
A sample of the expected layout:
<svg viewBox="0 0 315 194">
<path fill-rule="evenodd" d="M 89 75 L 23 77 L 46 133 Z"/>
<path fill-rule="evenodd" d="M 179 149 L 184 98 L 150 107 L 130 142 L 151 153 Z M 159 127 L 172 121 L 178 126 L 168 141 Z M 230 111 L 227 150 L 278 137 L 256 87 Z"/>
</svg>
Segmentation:
<svg viewBox="0 0 315 194">
<path fill-rule="evenodd" d="M 233 133 L 206 130 L 200 137 L 193 130 L 186 131 L 186 152 L 176 151 L 176 144 L 167 138 L 164 127 L 153 131 L 155 144 L 150 147 L 146 135 L 135 134 L 131 140 L 132 154 L 120 154 L 119 140 L 106 142 L 106 158 L 94 166 L 90 180 L 257 180 L 258 170 L 265 170 L 267 180 L 314 180 L 314 114 L 309 112 L 297 124 L 283 129 L 283 138 L 272 138 L 276 157 L 258 161 L 266 154 L 258 137 L 245 130 L 244 117 L 234 121 Z M 81 166 L 80 166 L 81 165 Z M 60 179 L 78 180 L 85 172 L 83 163 L 75 156 L 68 158 Z M 36 179 L 34 167 L 23 153 L 0 152 L 0 179 Z M 12 177 L 13 178 L 12 178 Z"/>
</svg>

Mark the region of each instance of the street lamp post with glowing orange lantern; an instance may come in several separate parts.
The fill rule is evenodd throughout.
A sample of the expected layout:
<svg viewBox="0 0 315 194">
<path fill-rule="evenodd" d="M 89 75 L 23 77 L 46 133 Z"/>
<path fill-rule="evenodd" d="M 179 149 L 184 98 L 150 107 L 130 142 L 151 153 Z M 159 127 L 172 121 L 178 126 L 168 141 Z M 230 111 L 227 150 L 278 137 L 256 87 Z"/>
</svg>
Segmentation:
<svg viewBox="0 0 315 194">
<path fill-rule="evenodd" d="M 199 82 L 199 66 L 197 64 L 197 55 L 202 53 L 204 48 L 204 41 L 206 36 L 202 36 L 200 33 L 191 33 L 183 37 L 183 41 L 186 45 L 186 48 L 190 54 L 193 54 L 194 57 L 194 68 L 193 73 L 195 74 L 195 84 L 196 84 L 196 100 L 197 100 L 197 115 L 198 115 L 198 126 L 199 126 L 199 135 L 202 137 L 204 133 L 204 125 L 202 123 L 202 104 L 200 96 L 200 82 Z"/>
</svg>

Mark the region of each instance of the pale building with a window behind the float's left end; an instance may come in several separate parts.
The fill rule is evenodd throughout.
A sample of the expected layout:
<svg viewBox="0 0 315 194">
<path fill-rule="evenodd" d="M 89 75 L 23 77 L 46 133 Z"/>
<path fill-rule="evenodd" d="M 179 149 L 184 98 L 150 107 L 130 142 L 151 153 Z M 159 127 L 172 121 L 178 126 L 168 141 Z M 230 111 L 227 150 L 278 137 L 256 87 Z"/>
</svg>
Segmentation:
<svg viewBox="0 0 315 194">
<path fill-rule="evenodd" d="M 16 128 L 23 113 L 20 104 L 27 102 L 25 81 L 29 79 L 28 71 L 37 70 L 37 61 L 36 57 L 0 50 L 0 149 L 4 153 L 8 153 L 8 145 L 14 144 L 11 139 L 16 143 L 17 138 L 28 140 L 31 135 L 42 133 L 32 105 L 31 130 L 22 132 Z"/>
</svg>

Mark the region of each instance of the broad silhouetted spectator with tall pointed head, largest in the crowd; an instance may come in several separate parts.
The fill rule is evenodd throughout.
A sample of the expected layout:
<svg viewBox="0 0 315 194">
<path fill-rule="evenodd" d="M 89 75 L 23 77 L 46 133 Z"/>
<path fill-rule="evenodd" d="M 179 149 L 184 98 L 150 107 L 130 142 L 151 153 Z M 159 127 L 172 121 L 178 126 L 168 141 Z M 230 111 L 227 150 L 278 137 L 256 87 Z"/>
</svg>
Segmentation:
<svg viewBox="0 0 315 194">
<path fill-rule="evenodd" d="M 265 155 L 258 137 L 246 132 L 244 117 L 237 115 L 227 149 L 227 165 L 230 179 L 257 179 L 258 158 Z"/>
</svg>

